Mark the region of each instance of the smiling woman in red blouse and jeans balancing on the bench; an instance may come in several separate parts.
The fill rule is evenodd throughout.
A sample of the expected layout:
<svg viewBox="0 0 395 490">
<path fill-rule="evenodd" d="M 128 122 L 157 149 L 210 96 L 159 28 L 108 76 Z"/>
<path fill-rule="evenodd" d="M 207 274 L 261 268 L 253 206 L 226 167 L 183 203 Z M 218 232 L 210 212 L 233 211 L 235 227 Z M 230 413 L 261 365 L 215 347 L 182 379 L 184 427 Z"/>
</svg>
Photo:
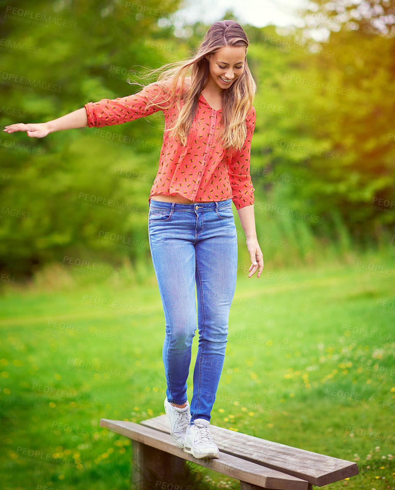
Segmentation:
<svg viewBox="0 0 395 490">
<path fill-rule="evenodd" d="M 250 176 L 256 84 L 247 65 L 248 46 L 238 23 L 216 22 L 195 55 L 173 63 L 139 93 L 89 102 L 47 123 L 4 129 L 42 138 L 61 129 L 126 123 L 163 111 L 163 146 L 149 195 L 148 234 L 165 318 L 164 408 L 173 441 L 195 458 L 219 457 L 209 421 L 236 287 L 232 201 L 251 255 L 248 277 L 256 270 L 259 277 L 263 270 Z M 195 283 L 199 343 L 189 406 L 186 380 L 196 330 Z"/>
</svg>

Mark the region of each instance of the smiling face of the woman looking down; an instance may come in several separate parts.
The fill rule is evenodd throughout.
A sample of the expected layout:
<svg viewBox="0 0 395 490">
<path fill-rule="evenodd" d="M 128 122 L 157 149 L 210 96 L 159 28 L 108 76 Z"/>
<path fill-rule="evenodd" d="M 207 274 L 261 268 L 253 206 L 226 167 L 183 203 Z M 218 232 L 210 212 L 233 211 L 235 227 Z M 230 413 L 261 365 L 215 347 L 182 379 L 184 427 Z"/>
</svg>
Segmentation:
<svg viewBox="0 0 395 490">
<path fill-rule="evenodd" d="M 221 89 L 227 89 L 244 70 L 245 48 L 225 46 L 206 56 L 209 59 L 210 75 Z"/>
</svg>

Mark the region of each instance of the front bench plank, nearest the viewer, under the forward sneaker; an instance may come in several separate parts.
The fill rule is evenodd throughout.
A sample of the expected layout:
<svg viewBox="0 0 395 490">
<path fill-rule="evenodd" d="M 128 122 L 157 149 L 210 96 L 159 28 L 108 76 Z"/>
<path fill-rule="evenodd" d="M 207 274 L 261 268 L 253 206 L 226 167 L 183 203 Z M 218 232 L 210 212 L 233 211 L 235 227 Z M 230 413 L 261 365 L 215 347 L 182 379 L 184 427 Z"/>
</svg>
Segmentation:
<svg viewBox="0 0 395 490">
<path fill-rule="evenodd" d="M 100 427 L 107 427 L 113 432 L 122 434 L 134 441 L 142 442 L 148 446 L 155 447 L 179 458 L 197 463 L 200 466 L 205 466 L 258 487 L 276 490 L 308 489 L 308 483 L 300 478 L 257 465 L 256 463 L 237 458 L 231 454 L 220 452 L 218 459 L 196 459 L 191 454 L 184 452 L 183 448 L 178 447 L 169 434 L 135 422 L 102 418 L 100 420 Z"/>
</svg>

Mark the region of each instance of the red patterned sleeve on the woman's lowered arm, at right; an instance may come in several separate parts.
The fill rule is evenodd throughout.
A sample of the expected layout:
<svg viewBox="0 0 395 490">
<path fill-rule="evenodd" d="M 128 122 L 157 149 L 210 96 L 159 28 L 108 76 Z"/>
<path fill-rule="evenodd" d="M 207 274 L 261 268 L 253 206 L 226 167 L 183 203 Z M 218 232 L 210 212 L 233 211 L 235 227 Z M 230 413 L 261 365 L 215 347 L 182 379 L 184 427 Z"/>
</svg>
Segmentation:
<svg viewBox="0 0 395 490">
<path fill-rule="evenodd" d="M 256 123 L 256 111 L 253 106 L 247 123 L 247 136 L 241 150 L 237 150 L 229 165 L 228 174 L 232 188 L 232 201 L 236 209 L 254 204 L 254 187 L 250 175 L 251 140 Z"/>
</svg>

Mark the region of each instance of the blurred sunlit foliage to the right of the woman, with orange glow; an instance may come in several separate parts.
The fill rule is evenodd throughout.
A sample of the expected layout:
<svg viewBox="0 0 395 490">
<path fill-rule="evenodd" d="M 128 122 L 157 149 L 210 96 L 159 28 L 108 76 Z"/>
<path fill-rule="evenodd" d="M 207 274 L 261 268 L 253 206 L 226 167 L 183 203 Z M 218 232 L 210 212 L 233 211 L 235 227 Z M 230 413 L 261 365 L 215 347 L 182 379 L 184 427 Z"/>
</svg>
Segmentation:
<svg viewBox="0 0 395 490">
<path fill-rule="evenodd" d="M 252 167 L 265 169 L 267 181 L 303 179 L 267 183 L 266 201 L 323 217 L 331 223 L 325 231 L 338 239 L 334 212 L 356 241 L 369 243 L 395 222 L 395 40 L 341 30 L 320 55 L 291 35 L 262 31 L 250 50 L 259 83 Z"/>
</svg>

